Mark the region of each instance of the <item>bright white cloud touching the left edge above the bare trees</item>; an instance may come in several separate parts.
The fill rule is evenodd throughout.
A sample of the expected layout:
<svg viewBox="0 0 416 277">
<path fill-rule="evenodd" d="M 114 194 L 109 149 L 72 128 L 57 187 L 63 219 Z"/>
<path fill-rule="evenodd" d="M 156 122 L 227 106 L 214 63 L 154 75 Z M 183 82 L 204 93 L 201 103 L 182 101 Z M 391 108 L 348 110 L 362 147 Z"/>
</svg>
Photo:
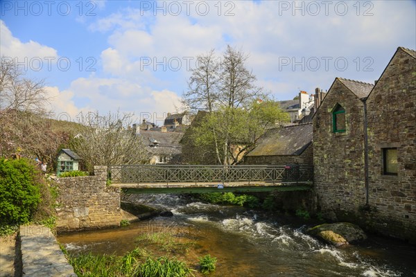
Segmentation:
<svg viewBox="0 0 416 277">
<path fill-rule="evenodd" d="M 44 46 L 38 42 L 21 42 L 17 37 L 13 37 L 3 20 L 0 20 L 0 49 L 1 55 L 5 57 L 17 57 L 18 62 L 23 62 L 25 58 L 29 61 L 33 57 L 44 60 L 45 57 L 58 57 L 54 48 Z"/>
</svg>

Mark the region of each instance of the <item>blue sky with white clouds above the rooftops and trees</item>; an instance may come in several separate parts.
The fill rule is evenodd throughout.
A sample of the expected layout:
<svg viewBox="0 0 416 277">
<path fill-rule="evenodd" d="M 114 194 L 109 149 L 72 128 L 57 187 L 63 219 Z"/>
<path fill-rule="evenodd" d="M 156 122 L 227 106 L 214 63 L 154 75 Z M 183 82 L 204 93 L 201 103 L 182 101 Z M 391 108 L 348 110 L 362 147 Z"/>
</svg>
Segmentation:
<svg viewBox="0 0 416 277">
<path fill-rule="evenodd" d="M 275 100 L 374 83 L 416 49 L 416 1 L 0 1 L 0 55 L 44 80 L 56 119 L 182 111 L 196 57 L 230 45 Z"/>
</svg>

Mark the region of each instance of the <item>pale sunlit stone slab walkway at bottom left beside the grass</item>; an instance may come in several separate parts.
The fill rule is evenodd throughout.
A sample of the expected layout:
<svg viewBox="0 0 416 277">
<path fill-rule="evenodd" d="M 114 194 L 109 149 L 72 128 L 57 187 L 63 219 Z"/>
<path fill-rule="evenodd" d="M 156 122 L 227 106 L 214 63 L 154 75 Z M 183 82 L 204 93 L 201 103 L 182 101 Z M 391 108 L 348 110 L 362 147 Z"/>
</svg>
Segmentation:
<svg viewBox="0 0 416 277">
<path fill-rule="evenodd" d="M 76 277 L 49 228 L 20 226 L 20 238 L 23 276 Z"/>
</svg>

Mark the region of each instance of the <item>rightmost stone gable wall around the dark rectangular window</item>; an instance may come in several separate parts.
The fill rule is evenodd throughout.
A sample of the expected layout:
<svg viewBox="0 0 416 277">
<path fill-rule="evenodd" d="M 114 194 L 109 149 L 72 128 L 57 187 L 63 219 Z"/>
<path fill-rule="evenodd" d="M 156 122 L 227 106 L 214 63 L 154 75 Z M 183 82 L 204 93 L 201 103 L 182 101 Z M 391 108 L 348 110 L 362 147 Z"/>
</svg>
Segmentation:
<svg viewBox="0 0 416 277">
<path fill-rule="evenodd" d="M 416 242 L 416 59 L 403 49 L 367 99 L 369 204 L 374 227 Z M 383 175 L 382 148 L 397 148 L 397 176 Z"/>
</svg>

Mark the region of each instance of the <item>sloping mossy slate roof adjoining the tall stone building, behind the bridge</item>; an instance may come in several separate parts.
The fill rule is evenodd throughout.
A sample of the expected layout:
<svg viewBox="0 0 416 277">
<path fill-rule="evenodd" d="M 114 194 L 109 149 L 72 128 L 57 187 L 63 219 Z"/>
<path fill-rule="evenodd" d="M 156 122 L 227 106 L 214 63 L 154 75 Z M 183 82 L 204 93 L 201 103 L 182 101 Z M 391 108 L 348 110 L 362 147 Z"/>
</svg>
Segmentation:
<svg viewBox="0 0 416 277">
<path fill-rule="evenodd" d="M 300 155 L 312 143 L 312 123 L 270 129 L 250 156 Z"/>
</svg>

